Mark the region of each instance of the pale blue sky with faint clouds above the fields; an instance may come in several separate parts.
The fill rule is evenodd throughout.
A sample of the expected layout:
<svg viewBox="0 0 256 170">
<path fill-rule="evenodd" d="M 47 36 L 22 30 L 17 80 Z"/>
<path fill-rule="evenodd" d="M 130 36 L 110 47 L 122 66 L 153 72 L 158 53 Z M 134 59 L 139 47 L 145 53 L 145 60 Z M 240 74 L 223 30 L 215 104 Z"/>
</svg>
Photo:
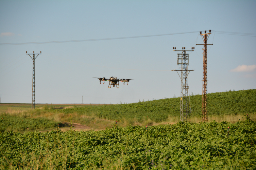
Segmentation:
<svg viewBox="0 0 256 170">
<path fill-rule="evenodd" d="M 0 0 L 2 103 L 134 103 L 180 96 L 176 49 L 189 52 L 190 94 L 202 94 L 203 40 L 208 93 L 256 88 L 256 1 L 38 1 Z M 193 32 L 131 39 L 50 44 L 3 43 L 103 39 Z M 216 31 L 216 32 L 215 32 Z M 250 33 L 249 36 L 217 31 Z M 92 77 L 134 79 L 108 88 Z"/>
</svg>

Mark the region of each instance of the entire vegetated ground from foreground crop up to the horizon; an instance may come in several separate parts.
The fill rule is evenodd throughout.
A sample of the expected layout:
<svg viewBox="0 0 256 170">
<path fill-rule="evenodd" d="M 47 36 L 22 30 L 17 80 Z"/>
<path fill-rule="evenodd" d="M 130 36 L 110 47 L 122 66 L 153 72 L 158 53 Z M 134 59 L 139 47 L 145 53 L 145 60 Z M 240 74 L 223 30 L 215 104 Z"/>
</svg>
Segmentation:
<svg viewBox="0 0 256 170">
<path fill-rule="evenodd" d="M 200 118 L 201 95 L 190 100 L 191 120 Z M 34 110 L 0 106 L 0 169 L 256 169 L 255 89 L 208 94 L 208 123 L 164 122 L 178 117 L 179 102 L 170 98 L 65 109 L 41 105 Z M 239 119 L 234 121 L 235 116 Z M 216 117 L 219 121 L 212 121 Z M 125 120 L 164 125 L 146 130 L 129 121 L 122 124 Z M 71 126 L 64 132 L 57 125 L 65 121 L 101 127 L 75 131 Z"/>
</svg>

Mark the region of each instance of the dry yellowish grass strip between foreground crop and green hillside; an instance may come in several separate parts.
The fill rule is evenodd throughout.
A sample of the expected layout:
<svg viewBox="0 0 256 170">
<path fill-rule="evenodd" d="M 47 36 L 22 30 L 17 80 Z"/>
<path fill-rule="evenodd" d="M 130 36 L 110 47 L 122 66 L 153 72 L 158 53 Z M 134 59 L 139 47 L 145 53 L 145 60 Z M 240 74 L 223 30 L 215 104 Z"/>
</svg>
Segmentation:
<svg viewBox="0 0 256 170">
<path fill-rule="evenodd" d="M 2 107 L 0 108 L 2 109 Z M 92 116 L 87 116 L 84 114 L 78 114 L 78 113 L 70 113 L 70 114 L 65 114 L 62 112 L 61 109 L 59 109 L 58 111 L 56 110 L 52 110 L 49 108 L 49 106 L 45 105 L 43 107 L 34 109 L 34 110 L 27 110 L 24 108 L 21 108 L 20 110 L 17 109 L 17 107 L 12 108 L 4 108 L 4 111 L 7 111 L 7 115 L 10 116 L 15 116 L 15 117 L 21 117 L 21 118 L 27 118 L 27 119 L 47 119 L 53 122 L 70 122 L 70 115 L 72 115 L 73 118 L 73 122 L 74 123 L 78 123 L 87 127 L 82 127 L 82 129 L 77 129 L 77 130 L 102 130 L 102 129 L 106 129 L 106 128 L 111 128 L 115 125 L 115 121 L 114 120 L 106 120 L 106 119 L 101 119 L 96 115 L 92 115 Z M 2 112 L 2 110 L 1 110 Z M 249 115 L 250 118 L 253 121 L 256 121 L 256 114 L 250 114 Z M 238 121 L 242 121 L 244 120 L 246 117 L 246 115 L 244 114 L 233 114 L 233 115 L 208 115 L 208 120 L 210 121 L 216 121 L 216 122 L 222 122 L 222 121 L 227 121 L 227 122 L 231 122 L 231 123 L 235 123 Z M 139 122 L 136 118 L 134 119 L 121 119 L 117 122 L 118 126 L 121 127 L 127 127 L 129 125 L 132 126 L 156 126 L 156 125 L 163 125 L 163 124 L 176 124 L 177 122 L 179 122 L 180 120 L 179 116 L 168 116 L 168 118 L 165 121 L 161 121 L 161 122 L 154 122 L 151 119 L 145 119 L 141 122 Z M 198 123 L 201 121 L 201 117 L 199 116 L 192 116 L 189 119 L 189 122 L 192 123 Z M 54 129 L 55 127 L 49 128 L 48 129 L 38 129 L 38 130 L 50 130 L 50 129 Z M 17 131 L 15 129 L 13 129 L 12 127 L 8 127 L 6 129 L 7 131 Z M 34 129 L 33 129 L 34 130 Z M 28 129 L 25 131 L 33 131 L 32 129 Z M 67 131 L 69 130 L 69 128 L 62 128 L 63 131 Z"/>
</svg>

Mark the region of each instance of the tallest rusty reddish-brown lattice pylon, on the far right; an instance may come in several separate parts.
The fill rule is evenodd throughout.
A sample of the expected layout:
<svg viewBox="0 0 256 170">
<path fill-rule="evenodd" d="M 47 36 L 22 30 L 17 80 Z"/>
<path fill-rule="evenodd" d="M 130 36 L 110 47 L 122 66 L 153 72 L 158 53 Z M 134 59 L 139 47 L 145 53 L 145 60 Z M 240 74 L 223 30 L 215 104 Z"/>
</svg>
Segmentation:
<svg viewBox="0 0 256 170">
<path fill-rule="evenodd" d="M 208 121 L 208 101 L 207 101 L 207 45 L 213 45 L 213 44 L 207 44 L 207 40 L 211 34 L 211 30 L 209 30 L 209 33 L 202 34 L 202 31 L 200 31 L 200 36 L 202 37 L 204 44 L 195 44 L 195 45 L 204 45 L 203 48 L 203 55 L 204 55 L 204 62 L 203 62 L 203 92 L 202 92 L 202 122 Z"/>
</svg>

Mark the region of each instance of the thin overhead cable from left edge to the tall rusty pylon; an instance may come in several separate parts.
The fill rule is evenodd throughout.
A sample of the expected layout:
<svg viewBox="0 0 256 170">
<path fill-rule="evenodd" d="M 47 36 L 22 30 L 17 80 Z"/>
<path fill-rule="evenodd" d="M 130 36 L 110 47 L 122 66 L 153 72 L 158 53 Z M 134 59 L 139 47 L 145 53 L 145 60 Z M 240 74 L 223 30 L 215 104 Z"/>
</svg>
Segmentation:
<svg viewBox="0 0 256 170">
<path fill-rule="evenodd" d="M 142 38 L 142 37 L 156 37 L 156 36 L 168 36 L 168 35 L 188 34 L 188 33 L 198 33 L 198 32 L 199 32 L 199 31 L 192 31 L 192 32 L 185 32 L 185 33 L 171 33 L 171 34 L 158 34 L 158 35 L 133 36 L 133 37 L 118 37 L 118 38 L 101 38 L 101 39 L 88 39 L 88 40 L 45 41 L 45 42 L 27 42 L 27 43 L 1 43 L 0 45 L 27 45 L 27 44 L 50 44 L 50 43 L 68 43 L 68 42 L 118 40 L 118 39 Z"/>
</svg>

